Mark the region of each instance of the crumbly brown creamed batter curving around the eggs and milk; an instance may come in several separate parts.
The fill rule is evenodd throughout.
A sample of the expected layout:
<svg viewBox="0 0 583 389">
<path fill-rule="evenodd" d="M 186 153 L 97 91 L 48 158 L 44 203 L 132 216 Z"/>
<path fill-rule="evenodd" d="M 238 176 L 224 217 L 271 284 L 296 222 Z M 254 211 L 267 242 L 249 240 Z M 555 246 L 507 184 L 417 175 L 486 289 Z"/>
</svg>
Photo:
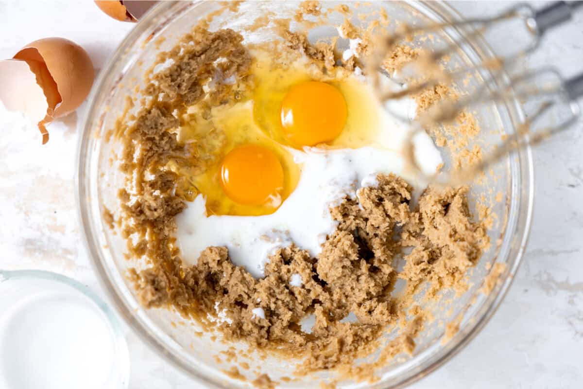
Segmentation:
<svg viewBox="0 0 583 389">
<path fill-rule="evenodd" d="M 304 8 L 318 15 L 314 4 Z M 333 45 L 311 45 L 305 35 L 291 31 L 283 36 L 288 48 L 322 68 L 337 66 Z M 227 340 L 303 357 L 299 372 L 307 373 L 352 366 L 354 358 L 371 352 L 387 326 L 402 321 L 412 306 L 407 299 L 423 282 L 431 293 L 463 288 L 466 270 L 489 244 L 484 226 L 472 220 L 468 189 L 430 187 L 413 206 L 413 188 L 391 174 L 379 175 L 377 185 L 361 188 L 356 198 L 330 209 L 338 227 L 315 258 L 301 247 L 281 248 L 266 264 L 262 279 L 234 265 L 226 247 L 208 247 L 196 265 L 184 264 L 174 218 L 185 208 L 185 196 L 177 190 L 182 177 L 169 164 L 202 168 L 205 161 L 196 142 L 179 142 L 175 129 L 188 106 L 198 104 L 204 111 L 240 97 L 250 82 L 252 58 L 233 30 L 198 27 L 160 55 L 160 63 L 167 60 L 169 66 L 150 74 L 149 99 L 135 121 L 116 134 L 124 142 L 121 169 L 128 180 L 119 194 L 122 234 L 129 256 L 147 264 L 130 274 L 145 307 L 174 307 L 218 328 Z M 396 57 L 392 61 L 399 64 Z M 237 83 L 210 85 L 217 73 L 234 76 Z M 113 225 L 113 218 L 108 223 Z M 410 253 L 405 254 L 404 271 L 397 272 L 403 248 Z M 301 276 L 301 286 L 290 285 L 294 274 Z M 407 281 L 405 294 L 394 293 L 398 278 Z M 265 317 L 254 313 L 258 308 Z M 219 312 L 229 321 L 220 320 Z M 343 320 L 350 313 L 356 322 Z M 378 363 L 415 348 L 424 314 L 415 306 L 409 313 L 413 320 L 384 348 Z M 315 324 L 304 332 L 301 321 L 310 314 Z M 264 377 L 257 384 L 269 387 L 271 381 Z"/>
</svg>

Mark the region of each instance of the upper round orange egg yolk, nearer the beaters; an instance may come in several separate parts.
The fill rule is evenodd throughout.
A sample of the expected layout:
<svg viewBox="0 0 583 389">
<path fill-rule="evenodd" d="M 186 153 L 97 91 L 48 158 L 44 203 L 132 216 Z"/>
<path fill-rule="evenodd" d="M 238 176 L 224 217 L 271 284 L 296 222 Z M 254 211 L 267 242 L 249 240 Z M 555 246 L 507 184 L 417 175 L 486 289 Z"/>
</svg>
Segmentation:
<svg viewBox="0 0 583 389">
<path fill-rule="evenodd" d="M 295 146 L 335 139 L 346 124 L 346 100 L 335 86 L 307 81 L 292 87 L 282 101 L 283 135 Z"/>
</svg>

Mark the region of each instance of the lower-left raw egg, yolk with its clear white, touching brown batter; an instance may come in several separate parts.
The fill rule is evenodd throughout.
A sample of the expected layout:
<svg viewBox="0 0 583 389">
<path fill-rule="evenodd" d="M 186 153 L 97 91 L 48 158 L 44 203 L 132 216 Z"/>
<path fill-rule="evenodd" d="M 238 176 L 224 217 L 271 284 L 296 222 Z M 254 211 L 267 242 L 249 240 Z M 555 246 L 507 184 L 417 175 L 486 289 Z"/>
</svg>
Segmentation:
<svg viewBox="0 0 583 389">
<path fill-rule="evenodd" d="M 186 178 L 179 193 L 202 194 L 209 215 L 267 215 L 296 187 L 300 166 L 255 124 L 252 106 L 244 101 L 216 107 L 212 120 L 195 114 L 180 129 L 181 140 L 194 142 L 195 155 L 207 164 L 197 166 L 201 172 L 177 167 Z"/>
</svg>

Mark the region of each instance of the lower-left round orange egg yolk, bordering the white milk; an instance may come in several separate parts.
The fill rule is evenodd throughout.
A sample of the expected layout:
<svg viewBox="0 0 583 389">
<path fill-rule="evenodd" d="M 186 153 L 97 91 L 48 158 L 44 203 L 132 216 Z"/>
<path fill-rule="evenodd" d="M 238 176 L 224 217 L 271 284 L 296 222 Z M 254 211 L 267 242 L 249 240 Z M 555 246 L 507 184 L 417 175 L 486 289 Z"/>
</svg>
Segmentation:
<svg viewBox="0 0 583 389">
<path fill-rule="evenodd" d="M 231 150 L 220 166 L 220 183 L 226 195 L 243 205 L 281 203 L 283 167 L 278 156 L 258 145 Z"/>
</svg>

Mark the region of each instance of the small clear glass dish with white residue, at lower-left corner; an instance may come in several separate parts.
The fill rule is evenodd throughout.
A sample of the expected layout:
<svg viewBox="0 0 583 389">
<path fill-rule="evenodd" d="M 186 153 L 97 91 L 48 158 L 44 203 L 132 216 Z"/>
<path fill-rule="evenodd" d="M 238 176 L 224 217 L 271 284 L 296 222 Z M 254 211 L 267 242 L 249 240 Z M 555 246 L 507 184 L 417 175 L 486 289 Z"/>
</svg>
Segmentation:
<svg viewBox="0 0 583 389">
<path fill-rule="evenodd" d="M 0 387 L 124 389 L 128 349 L 107 305 L 51 272 L 0 271 Z"/>
</svg>

